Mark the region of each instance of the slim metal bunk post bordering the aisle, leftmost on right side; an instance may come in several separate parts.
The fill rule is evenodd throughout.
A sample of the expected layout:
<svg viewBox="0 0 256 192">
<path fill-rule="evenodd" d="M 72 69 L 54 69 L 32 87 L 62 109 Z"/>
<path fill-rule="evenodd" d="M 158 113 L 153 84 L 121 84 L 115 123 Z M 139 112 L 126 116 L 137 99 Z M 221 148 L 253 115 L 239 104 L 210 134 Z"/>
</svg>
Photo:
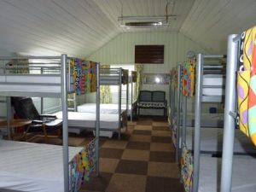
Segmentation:
<svg viewBox="0 0 256 192">
<path fill-rule="evenodd" d="M 175 156 L 175 161 L 178 163 L 179 161 L 179 150 L 180 150 L 180 88 L 181 88 L 181 66 L 177 66 L 177 138 L 176 138 L 176 156 Z"/>
</svg>

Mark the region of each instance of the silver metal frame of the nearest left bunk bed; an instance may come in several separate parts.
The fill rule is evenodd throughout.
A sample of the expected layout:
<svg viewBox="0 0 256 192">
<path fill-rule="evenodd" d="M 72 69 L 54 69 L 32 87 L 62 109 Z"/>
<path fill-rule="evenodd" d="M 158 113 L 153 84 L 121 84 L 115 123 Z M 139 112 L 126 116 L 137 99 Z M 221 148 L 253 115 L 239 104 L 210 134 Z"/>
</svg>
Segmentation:
<svg viewBox="0 0 256 192">
<path fill-rule="evenodd" d="M 15 74 L 15 73 L 8 73 L 9 69 L 14 69 L 14 67 L 9 66 L 3 66 L 1 67 L 2 70 L 0 71 L 2 79 L 0 80 L 0 96 L 6 96 L 7 97 L 7 107 L 8 107 L 8 113 L 7 113 L 7 119 L 9 121 L 11 114 L 10 114 L 10 96 L 45 96 L 45 97 L 61 97 L 61 107 L 62 107 L 62 139 L 63 139 L 63 171 L 64 171 L 64 189 L 65 192 L 70 191 L 69 189 L 69 160 L 68 160 L 68 126 L 67 126 L 67 92 L 73 92 L 73 83 L 71 80 L 71 68 L 69 66 L 69 57 L 67 55 L 61 55 L 61 56 L 18 56 L 18 57 L 0 57 L 0 61 L 18 61 L 18 60 L 43 60 L 43 61 L 57 61 L 58 63 L 58 69 L 60 70 L 58 74 L 55 74 L 55 77 L 59 78 L 58 84 L 45 84 L 42 83 L 42 75 L 44 74 L 38 74 L 38 75 L 30 75 L 30 74 Z M 39 67 L 44 67 L 44 64 Z M 29 66 L 26 66 L 29 67 Z M 97 72 L 99 72 L 99 64 L 96 66 Z M 35 77 L 38 79 L 37 83 L 33 82 L 20 82 L 20 81 L 13 81 L 13 77 Z M 45 75 L 44 75 L 45 76 Z M 46 75 L 47 76 L 47 75 Z M 40 80 L 41 79 L 41 80 Z M 96 75 L 96 79 L 99 79 L 99 73 Z M 37 92 L 33 91 L 27 91 L 27 90 L 15 90 L 15 88 L 12 88 L 13 85 L 22 85 L 22 86 L 38 86 L 38 88 L 42 88 L 44 86 L 50 85 L 54 86 L 58 89 L 52 92 L 47 92 L 45 90 L 38 89 Z M 100 91 L 99 91 L 99 80 L 97 80 L 96 84 L 96 175 L 99 174 L 99 122 L 100 122 L 100 113 L 99 113 L 99 101 L 100 101 Z"/>
</svg>

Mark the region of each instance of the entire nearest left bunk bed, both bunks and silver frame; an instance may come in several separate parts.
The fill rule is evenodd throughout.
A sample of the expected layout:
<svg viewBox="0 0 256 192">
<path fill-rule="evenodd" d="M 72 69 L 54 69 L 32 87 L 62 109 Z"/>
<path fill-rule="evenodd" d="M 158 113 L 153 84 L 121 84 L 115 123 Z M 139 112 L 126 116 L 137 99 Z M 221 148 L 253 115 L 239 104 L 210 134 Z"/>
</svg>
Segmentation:
<svg viewBox="0 0 256 192">
<path fill-rule="evenodd" d="M 1 190 L 78 191 L 80 185 L 88 179 L 93 170 L 96 170 L 96 175 L 99 174 L 98 106 L 96 138 L 84 148 L 68 148 L 67 93 L 78 88 L 73 80 L 73 70 L 75 69 L 73 69 L 71 62 L 74 60 L 84 63 L 82 60 L 73 59 L 67 57 L 67 55 L 0 57 L 0 96 L 7 98 L 8 122 L 11 119 L 10 96 L 61 97 L 63 140 L 63 146 L 1 140 L 1 154 L 4 154 L 1 155 L 1 162 L 4 162 L 0 167 Z M 46 67 L 53 73 L 30 73 L 35 68 L 41 70 L 42 67 Z M 96 72 L 98 72 L 99 65 L 96 64 L 95 67 Z M 98 73 L 94 78 L 93 85 L 97 92 L 97 101 L 99 101 Z M 32 152 L 28 152 L 29 148 L 33 149 Z M 44 158 L 42 158 L 42 155 Z M 88 155 L 90 155 L 90 158 L 85 158 Z M 6 159 L 10 156 L 10 160 Z M 42 160 L 38 160 L 40 157 L 44 160 L 44 163 Z M 49 158 L 45 160 L 45 157 Z M 51 163 L 54 164 L 51 165 Z M 57 166 L 54 166 L 56 164 Z M 52 174 L 53 170 L 55 170 L 55 175 Z M 55 177 L 56 175 L 58 178 Z"/>
</svg>

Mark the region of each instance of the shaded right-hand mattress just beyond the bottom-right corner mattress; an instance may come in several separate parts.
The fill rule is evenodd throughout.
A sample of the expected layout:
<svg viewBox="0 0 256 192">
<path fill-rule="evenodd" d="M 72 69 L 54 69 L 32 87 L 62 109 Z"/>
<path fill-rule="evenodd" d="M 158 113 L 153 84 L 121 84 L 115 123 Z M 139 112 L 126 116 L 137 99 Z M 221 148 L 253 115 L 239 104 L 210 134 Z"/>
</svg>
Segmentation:
<svg viewBox="0 0 256 192">
<path fill-rule="evenodd" d="M 194 127 L 188 127 L 186 132 L 186 145 L 189 150 L 192 149 L 194 141 Z M 202 152 L 221 152 L 223 147 L 222 128 L 201 128 L 201 151 Z M 234 152 L 238 154 L 253 153 L 256 154 L 256 148 L 248 137 L 240 130 L 235 131 Z"/>
</svg>

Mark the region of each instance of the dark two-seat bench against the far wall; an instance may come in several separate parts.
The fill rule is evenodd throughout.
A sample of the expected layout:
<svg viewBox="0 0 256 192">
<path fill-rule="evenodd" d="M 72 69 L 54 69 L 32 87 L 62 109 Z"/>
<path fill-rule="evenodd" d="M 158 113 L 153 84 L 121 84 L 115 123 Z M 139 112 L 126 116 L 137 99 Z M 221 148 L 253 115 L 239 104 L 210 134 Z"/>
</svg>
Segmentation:
<svg viewBox="0 0 256 192">
<path fill-rule="evenodd" d="M 163 109 L 166 116 L 166 92 L 162 90 L 140 90 L 137 110 L 140 115 L 141 108 Z"/>
</svg>

